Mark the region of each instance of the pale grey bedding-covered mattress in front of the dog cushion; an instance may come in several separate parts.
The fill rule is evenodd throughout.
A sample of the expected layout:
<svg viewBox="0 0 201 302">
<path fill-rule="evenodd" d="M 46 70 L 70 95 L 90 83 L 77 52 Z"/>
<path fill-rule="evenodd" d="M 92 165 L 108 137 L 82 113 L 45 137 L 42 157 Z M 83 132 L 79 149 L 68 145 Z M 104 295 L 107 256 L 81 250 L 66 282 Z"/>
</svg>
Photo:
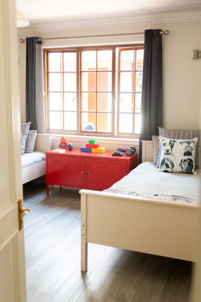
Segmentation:
<svg viewBox="0 0 201 302">
<path fill-rule="evenodd" d="M 143 162 L 103 192 L 199 203 L 201 169 L 195 172 L 193 175 L 159 172 L 152 162 Z"/>
</svg>

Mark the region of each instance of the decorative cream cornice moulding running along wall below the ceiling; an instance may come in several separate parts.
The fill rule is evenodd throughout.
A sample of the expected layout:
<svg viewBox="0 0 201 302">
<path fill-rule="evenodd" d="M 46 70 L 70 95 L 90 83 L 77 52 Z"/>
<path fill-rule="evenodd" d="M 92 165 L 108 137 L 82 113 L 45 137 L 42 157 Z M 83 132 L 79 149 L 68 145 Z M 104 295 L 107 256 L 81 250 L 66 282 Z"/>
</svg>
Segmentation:
<svg viewBox="0 0 201 302">
<path fill-rule="evenodd" d="M 192 22 L 201 21 L 201 11 L 160 14 L 160 15 L 144 15 L 144 16 L 129 16 L 120 18 L 107 19 L 92 19 L 83 21 L 68 21 L 62 23 L 46 23 L 32 24 L 26 28 L 19 28 L 18 34 L 33 34 L 56 31 L 69 31 L 77 29 L 90 29 L 102 27 L 117 27 L 117 26 L 134 26 L 134 25 L 151 25 L 151 24 L 166 24 L 175 22 Z"/>
</svg>

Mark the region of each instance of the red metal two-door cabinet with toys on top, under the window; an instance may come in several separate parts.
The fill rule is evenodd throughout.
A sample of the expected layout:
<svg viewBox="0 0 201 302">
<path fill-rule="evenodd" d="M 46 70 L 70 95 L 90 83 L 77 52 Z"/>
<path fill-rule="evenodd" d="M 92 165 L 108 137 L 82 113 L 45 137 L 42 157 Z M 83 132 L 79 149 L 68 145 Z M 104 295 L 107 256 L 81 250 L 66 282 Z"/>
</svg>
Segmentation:
<svg viewBox="0 0 201 302">
<path fill-rule="evenodd" d="M 137 153 L 112 156 L 112 152 L 87 153 L 67 150 L 46 152 L 46 183 L 72 188 L 105 190 L 137 167 Z"/>
</svg>

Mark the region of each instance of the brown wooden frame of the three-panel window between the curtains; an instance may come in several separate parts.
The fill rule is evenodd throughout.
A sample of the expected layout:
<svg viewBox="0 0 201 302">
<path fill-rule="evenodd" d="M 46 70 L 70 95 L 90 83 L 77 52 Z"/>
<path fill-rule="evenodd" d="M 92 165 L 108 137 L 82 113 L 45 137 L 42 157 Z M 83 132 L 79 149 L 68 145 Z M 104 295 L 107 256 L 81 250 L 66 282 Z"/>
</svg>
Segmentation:
<svg viewBox="0 0 201 302">
<path fill-rule="evenodd" d="M 134 117 L 135 117 L 135 112 L 134 109 L 132 110 L 132 114 L 133 115 L 133 127 L 132 127 L 132 133 L 120 133 L 118 132 L 118 118 L 117 116 L 119 115 L 119 112 L 115 112 L 115 106 L 117 106 L 116 108 L 118 108 L 118 102 L 117 105 L 115 105 L 115 96 L 116 93 L 119 91 L 119 89 L 116 92 L 116 49 L 118 48 L 119 50 L 123 50 L 123 49 L 128 49 L 129 47 L 134 47 L 134 49 L 144 49 L 144 44 L 125 44 L 125 45 L 108 45 L 108 46 L 89 46 L 89 47 L 65 47 L 65 48 L 50 48 L 50 49 L 44 49 L 43 50 L 43 70 L 44 70 L 44 101 L 45 101 L 45 118 L 46 118 L 46 133 L 52 133 L 52 134 L 60 134 L 60 135 L 84 135 L 84 136 L 101 136 L 101 137 L 126 137 L 126 138 L 137 138 L 139 139 L 139 134 L 135 134 L 133 133 L 133 129 L 134 129 Z M 81 52 L 83 50 L 96 50 L 96 78 L 97 78 L 97 73 L 99 72 L 99 70 L 97 69 L 97 51 L 98 50 L 112 50 L 112 70 L 111 70 L 111 74 L 112 74 L 112 88 L 111 88 L 111 95 L 112 95 L 112 101 L 111 101 L 111 133 L 108 132 L 89 132 L 89 131 L 83 131 L 82 130 L 82 124 L 81 124 L 81 114 L 82 114 L 82 76 L 81 76 L 81 66 L 82 66 L 82 59 L 81 59 Z M 74 51 L 76 52 L 76 63 L 77 63 L 77 70 L 76 70 L 76 74 L 77 74 L 77 129 L 76 130 L 72 130 L 72 131 L 62 131 L 62 130 L 48 130 L 49 129 L 49 125 L 48 125 L 48 79 L 47 79 L 47 66 L 48 66 L 48 53 L 50 52 L 69 52 L 69 51 Z M 136 56 L 136 52 L 135 52 L 135 56 Z M 119 56 L 120 57 L 120 56 Z M 136 62 L 136 60 L 135 60 Z M 118 68 L 119 70 L 119 68 Z M 138 70 L 133 70 L 133 75 L 134 75 L 134 79 L 133 79 L 133 83 L 135 85 L 135 77 L 136 77 L 136 72 L 138 72 Z M 64 76 L 64 72 L 61 72 L 61 74 L 63 74 Z M 118 72 L 118 74 L 120 74 L 120 72 Z M 97 80 L 97 79 L 96 79 Z M 64 85 L 64 81 L 63 81 L 63 85 Z M 97 85 L 97 81 L 96 81 L 96 85 Z M 119 81 L 118 81 L 118 85 L 119 85 Z M 133 86 L 134 86 L 133 85 Z M 134 89 L 134 87 L 133 87 Z M 62 93 L 62 91 L 61 91 Z M 64 93 L 64 92 L 63 92 Z M 135 95 L 134 92 L 132 92 L 133 95 Z M 63 98 L 64 100 L 64 98 Z M 133 100 L 133 108 L 135 108 L 135 97 Z M 91 111 L 90 111 L 91 112 Z M 92 111 L 93 112 L 93 111 Z M 96 120 L 97 120 L 97 87 L 96 87 Z M 63 112 L 64 114 L 64 112 Z"/>
</svg>

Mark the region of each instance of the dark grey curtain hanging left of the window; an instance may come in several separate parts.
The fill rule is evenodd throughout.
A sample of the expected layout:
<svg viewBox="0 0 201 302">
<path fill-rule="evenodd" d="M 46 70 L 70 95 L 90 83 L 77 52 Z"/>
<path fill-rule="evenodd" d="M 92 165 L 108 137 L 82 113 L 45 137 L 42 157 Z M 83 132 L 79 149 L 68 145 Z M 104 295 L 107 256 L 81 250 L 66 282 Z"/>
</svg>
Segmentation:
<svg viewBox="0 0 201 302">
<path fill-rule="evenodd" d="M 27 38 L 26 53 L 26 121 L 30 130 L 45 133 L 45 105 L 43 89 L 42 41 Z"/>
</svg>

